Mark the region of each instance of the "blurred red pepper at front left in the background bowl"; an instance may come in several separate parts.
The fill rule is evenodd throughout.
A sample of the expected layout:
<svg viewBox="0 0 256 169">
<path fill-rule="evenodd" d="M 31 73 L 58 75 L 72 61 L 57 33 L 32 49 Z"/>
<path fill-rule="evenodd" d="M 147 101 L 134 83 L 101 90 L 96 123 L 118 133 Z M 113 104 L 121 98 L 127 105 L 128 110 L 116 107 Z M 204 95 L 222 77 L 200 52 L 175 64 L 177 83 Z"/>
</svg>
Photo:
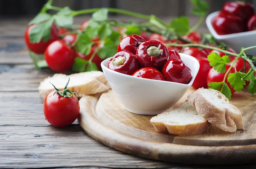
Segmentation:
<svg viewBox="0 0 256 169">
<path fill-rule="evenodd" d="M 244 31 L 244 22 L 240 17 L 219 13 L 212 20 L 212 26 L 219 35 L 234 34 Z"/>
</svg>

